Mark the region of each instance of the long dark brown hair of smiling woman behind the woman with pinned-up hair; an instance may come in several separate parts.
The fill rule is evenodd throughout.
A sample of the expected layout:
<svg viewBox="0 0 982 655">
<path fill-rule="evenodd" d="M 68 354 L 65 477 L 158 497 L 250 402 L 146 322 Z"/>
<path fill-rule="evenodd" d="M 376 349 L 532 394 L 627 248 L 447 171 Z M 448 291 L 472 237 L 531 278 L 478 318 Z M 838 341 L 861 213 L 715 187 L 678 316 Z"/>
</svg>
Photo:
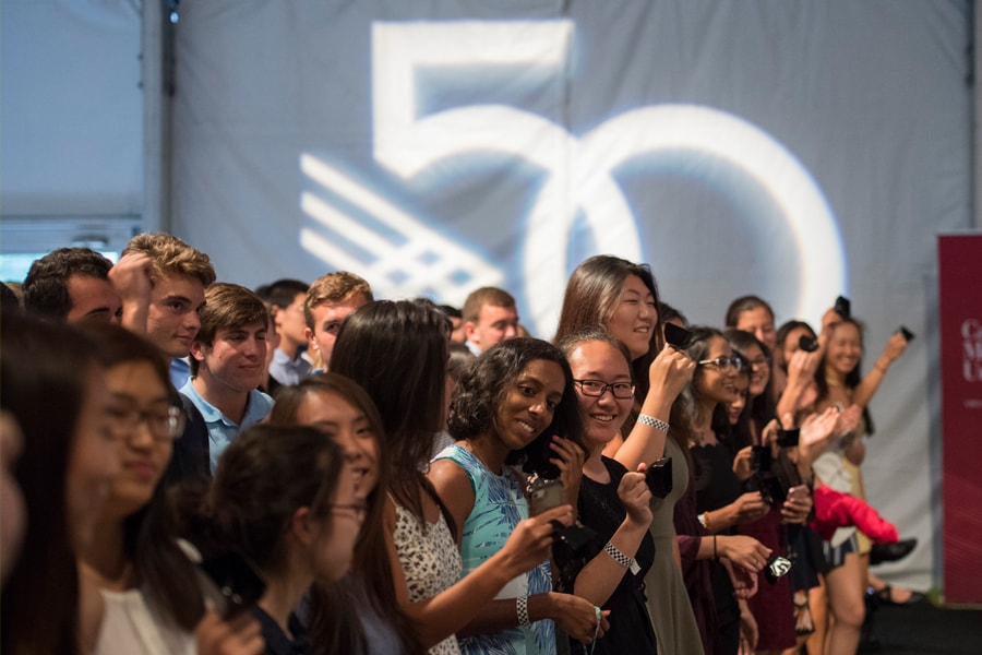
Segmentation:
<svg viewBox="0 0 982 655">
<path fill-rule="evenodd" d="M 375 488 L 366 499 L 368 513 L 355 544 L 351 562 L 355 579 L 347 576 L 328 584 L 315 582 L 310 590 L 307 631 L 311 643 L 318 644 L 325 653 L 368 655 L 368 642 L 357 615 L 358 608 L 350 600 L 352 593 L 357 593 L 351 586 L 362 585 L 371 608 L 395 629 L 402 641 L 403 652 L 421 654 L 426 648 L 415 624 L 399 608 L 392 584 L 392 567 L 382 533 L 382 510 L 388 489 L 391 465 L 388 449 L 385 448 L 385 428 L 372 398 L 357 383 L 340 373 L 318 373 L 304 378 L 299 384 L 279 388 L 276 405 L 270 414 L 270 425 L 297 425 L 297 414 L 303 400 L 320 393 L 337 394 L 364 414 L 379 444 L 379 478 Z"/>
</svg>

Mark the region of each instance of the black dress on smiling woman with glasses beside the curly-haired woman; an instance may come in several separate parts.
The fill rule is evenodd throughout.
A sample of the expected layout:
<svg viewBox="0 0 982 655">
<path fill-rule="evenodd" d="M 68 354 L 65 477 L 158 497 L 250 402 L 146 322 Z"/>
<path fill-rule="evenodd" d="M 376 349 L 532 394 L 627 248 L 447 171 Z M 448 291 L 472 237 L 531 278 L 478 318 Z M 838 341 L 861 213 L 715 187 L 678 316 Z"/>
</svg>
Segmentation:
<svg viewBox="0 0 982 655">
<path fill-rule="evenodd" d="M 602 462 L 610 473 L 610 483 L 602 484 L 583 476 L 579 486 L 579 499 L 577 509 L 579 522 L 597 532 L 597 536 L 586 546 L 579 556 L 573 556 L 568 548 L 554 548 L 553 557 L 561 569 L 561 579 L 564 591 L 572 593 L 576 576 L 583 568 L 597 555 L 603 552 L 603 547 L 610 540 L 627 512 L 618 496 L 618 486 L 621 478 L 627 473 L 624 466 L 608 457 Z M 607 557 L 604 555 L 604 557 Z M 651 619 L 648 617 L 647 598 L 645 597 L 645 574 L 651 568 L 655 558 L 655 541 L 650 534 L 645 534 L 637 552 L 634 556 L 638 571 L 633 573 L 625 569 L 620 584 L 603 604 L 602 609 L 610 610 L 610 630 L 589 648 L 592 655 L 624 655 L 626 653 L 655 653 L 657 642 Z M 570 639 L 570 651 L 580 652 L 579 642 Z"/>
</svg>

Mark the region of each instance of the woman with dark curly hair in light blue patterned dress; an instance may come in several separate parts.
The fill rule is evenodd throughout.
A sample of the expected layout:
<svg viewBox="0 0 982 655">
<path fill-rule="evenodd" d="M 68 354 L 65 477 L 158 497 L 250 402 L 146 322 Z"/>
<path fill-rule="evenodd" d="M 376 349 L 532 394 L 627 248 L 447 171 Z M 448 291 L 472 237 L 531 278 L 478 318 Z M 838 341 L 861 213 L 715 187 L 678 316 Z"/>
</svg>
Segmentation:
<svg viewBox="0 0 982 655">
<path fill-rule="evenodd" d="M 583 419 L 570 365 L 548 342 L 512 338 L 475 359 L 458 380 L 447 430 L 456 442 L 433 461 L 430 478 L 460 526 L 465 576 L 529 515 L 525 475 L 513 467 L 534 479 L 562 477 L 566 502 L 576 502 Z M 553 653 L 553 620 L 584 643 L 594 640 L 602 622 L 594 605 L 553 593 L 549 562 L 537 564 L 471 622 L 464 653 Z"/>
</svg>

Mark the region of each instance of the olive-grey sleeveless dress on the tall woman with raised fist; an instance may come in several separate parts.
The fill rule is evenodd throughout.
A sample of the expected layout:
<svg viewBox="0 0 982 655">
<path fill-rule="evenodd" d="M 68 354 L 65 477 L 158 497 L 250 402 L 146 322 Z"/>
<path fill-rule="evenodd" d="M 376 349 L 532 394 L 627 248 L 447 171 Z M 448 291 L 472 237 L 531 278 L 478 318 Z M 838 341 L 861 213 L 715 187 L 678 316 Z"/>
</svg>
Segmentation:
<svg viewBox="0 0 982 655">
<path fill-rule="evenodd" d="M 682 571 L 672 557 L 674 509 L 688 488 L 688 466 L 685 464 L 685 453 L 671 437 L 664 441 L 664 455 L 672 458 L 672 491 L 664 499 L 651 501 L 652 519 L 648 532 L 655 539 L 655 559 L 645 575 L 648 611 L 659 653 L 703 655 L 703 641 L 688 602 L 688 592 Z"/>
</svg>

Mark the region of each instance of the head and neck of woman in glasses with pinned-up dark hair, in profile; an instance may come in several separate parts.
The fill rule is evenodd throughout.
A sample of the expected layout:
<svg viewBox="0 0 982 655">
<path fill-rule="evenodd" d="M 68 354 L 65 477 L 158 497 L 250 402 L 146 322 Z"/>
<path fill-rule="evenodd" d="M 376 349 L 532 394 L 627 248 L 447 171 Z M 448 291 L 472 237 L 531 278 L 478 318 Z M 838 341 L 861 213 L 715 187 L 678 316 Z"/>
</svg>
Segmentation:
<svg viewBox="0 0 982 655">
<path fill-rule="evenodd" d="M 205 496 L 190 500 L 197 502 L 185 514 L 187 538 L 206 558 L 240 555 L 265 581 L 249 612 L 263 652 L 321 652 L 297 609 L 314 581 L 348 570 L 366 513 L 342 448 L 308 426 L 251 426 L 223 452 Z"/>
</svg>

